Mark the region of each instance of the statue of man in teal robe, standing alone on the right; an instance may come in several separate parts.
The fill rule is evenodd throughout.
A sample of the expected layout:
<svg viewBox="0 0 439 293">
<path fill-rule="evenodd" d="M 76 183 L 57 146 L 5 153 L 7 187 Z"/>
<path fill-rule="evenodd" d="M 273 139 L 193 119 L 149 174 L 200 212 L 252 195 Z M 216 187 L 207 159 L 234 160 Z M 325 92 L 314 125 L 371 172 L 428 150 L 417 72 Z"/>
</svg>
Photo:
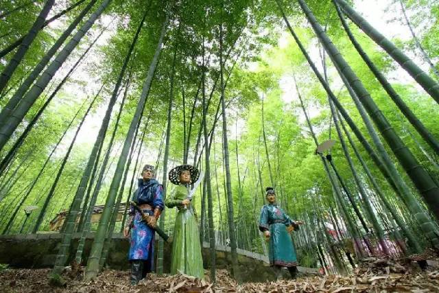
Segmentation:
<svg viewBox="0 0 439 293">
<path fill-rule="evenodd" d="M 298 230 L 302 222 L 291 220 L 277 206 L 273 187 L 267 187 L 265 192 L 268 204 L 265 204 L 261 209 L 259 230 L 263 232 L 265 238 L 270 242 L 268 249 L 270 266 L 274 268 L 278 279 L 281 278 L 282 267 L 286 267 L 292 279 L 295 279 L 297 275 L 297 256 L 290 233 Z"/>
</svg>

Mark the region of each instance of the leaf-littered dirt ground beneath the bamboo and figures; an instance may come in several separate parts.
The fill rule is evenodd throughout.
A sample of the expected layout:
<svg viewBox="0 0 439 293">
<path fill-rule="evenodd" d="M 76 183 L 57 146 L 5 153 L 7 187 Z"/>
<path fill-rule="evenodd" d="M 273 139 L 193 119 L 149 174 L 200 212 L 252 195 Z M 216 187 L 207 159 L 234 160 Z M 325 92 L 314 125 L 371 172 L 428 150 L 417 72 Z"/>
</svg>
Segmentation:
<svg viewBox="0 0 439 293">
<path fill-rule="evenodd" d="M 185 275 L 157 277 L 150 274 L 139 285 L 129 283 L 129 272 L 104 270 L 95 281 L 82 281 L 82 270 L 67 270 L 62 286 L 49 285 L 49 269 L 0 271 L 0 292 L 439 292 L 439 270 L 402 266 L 383 259 L 370 259 L 353 274 L 341 277 L 299 277 L 267 283 L 237 284 L 225 270 L 217 271 L 217 283 Z"/>
</svg>

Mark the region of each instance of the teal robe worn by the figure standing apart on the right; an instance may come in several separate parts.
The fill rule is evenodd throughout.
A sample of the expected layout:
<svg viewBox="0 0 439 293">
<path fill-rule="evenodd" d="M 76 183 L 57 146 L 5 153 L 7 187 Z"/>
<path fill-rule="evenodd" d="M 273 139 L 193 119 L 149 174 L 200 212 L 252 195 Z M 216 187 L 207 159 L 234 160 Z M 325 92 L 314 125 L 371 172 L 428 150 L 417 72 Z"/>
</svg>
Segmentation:
<svg viewBox="0 0 439 293">
<path fill-rule="evenodd" d="M 259 230 L 262 232 L 270 231 L 268 250 L 270 266 L 287 268 L 297 266 L 296 248 L 294 248 L 291 235 L 287 231 L 289 225 L 293 225 L 295 231 L 298 229 L 298 224 L 291 220 L 276 204 L 265 204 L 262 207 Z"/>
</svg>

